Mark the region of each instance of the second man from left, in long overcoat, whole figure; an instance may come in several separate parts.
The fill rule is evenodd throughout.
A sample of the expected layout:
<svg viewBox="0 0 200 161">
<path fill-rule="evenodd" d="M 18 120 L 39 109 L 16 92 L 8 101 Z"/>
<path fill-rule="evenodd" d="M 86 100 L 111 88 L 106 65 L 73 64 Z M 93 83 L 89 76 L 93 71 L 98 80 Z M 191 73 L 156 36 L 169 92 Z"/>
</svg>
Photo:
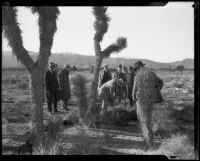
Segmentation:
<svg viewBox="0 0 200 161">
<path fill-rule="evenodd" d="M 70 68 L 71 67 L 68 64 L 65 64 L 64 68 L 58 72 L 59 96 L 62 101 L 62 108 L 65 110 L 70 110 L 69 108 L 67 108 L 68 100 L 71 99 L 69 82 Z"/>
</svg>

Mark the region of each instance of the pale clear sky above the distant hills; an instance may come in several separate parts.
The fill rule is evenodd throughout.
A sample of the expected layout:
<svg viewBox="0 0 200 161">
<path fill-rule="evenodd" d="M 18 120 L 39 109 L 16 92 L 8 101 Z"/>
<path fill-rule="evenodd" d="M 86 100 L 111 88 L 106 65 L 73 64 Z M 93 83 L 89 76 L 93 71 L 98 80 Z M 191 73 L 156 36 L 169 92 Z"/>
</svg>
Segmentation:
<svg viewBox="0 0 200 161">
<path fill-rule="evenodd" d="M 160 62 L 194 58 L 194 14 L 192 2 L 170 2 L 165 7 L 109 7 L 111 18 L 102 49 L 119 36 L 127 38 L 126 49 L 115 55 Z M 94 15 L 91 7 L 59 7 L 52 52 L 94 55 Z M 39 51 L 37 15 L 18 7 L 18 22 L 24 47 Z M 3 38 L 3 37 L 2 37 Z M 3 50 L 11 50 L 3 38 Z"/>
</svg>

